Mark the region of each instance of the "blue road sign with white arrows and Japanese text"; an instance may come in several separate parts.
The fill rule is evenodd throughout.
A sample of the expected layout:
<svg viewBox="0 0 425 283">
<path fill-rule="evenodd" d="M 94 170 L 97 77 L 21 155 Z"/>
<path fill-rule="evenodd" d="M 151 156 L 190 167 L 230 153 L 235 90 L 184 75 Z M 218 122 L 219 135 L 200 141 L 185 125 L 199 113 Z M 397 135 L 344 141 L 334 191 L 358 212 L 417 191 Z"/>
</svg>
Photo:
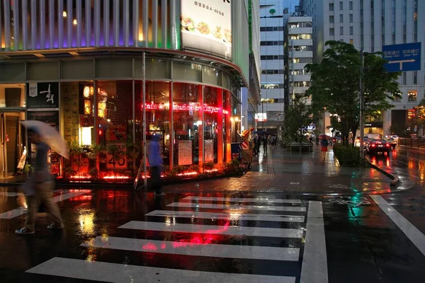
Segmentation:
<svg viewBox="0 0 425 283">
<path fill-rule="evenodd" d="M 419 71 L 421 42 L 382 46 L 382 57 L 387 59 L 387 71 Z"/>
</svg>

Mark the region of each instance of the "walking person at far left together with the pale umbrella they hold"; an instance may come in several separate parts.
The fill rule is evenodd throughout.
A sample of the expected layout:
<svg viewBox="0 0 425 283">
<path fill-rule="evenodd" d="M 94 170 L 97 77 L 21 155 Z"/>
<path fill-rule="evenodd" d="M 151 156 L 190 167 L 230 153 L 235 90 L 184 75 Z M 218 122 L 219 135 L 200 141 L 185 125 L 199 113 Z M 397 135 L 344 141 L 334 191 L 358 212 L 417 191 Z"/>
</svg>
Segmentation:
<svg viewBox="0 0 425 283">
<path fill-rule="evenodd" d="M 48 214 L 53 222 L 47 229 L 64 229 L 64 221 L 60 215 L 60 209 L 57 203 L 52 200 L 53 190 L 55 189 L 55 181 L 47 166 L 47 153 L 49 147 L 58 154 L 69 158 L 67 146 L 57 130 L 40 121 L 24 121 L 21 122 L 27 127 L 28 141 L 37 146 L 35 155 L 35 166 L 33 176 L 23 185 L 26 195 L 29 195 L 28 214 L 23 228 L 18 229 L 15 233 L 20 235 L 35 233 L 35 214 L 40 206 L 44 204 Z"/>
</svg>

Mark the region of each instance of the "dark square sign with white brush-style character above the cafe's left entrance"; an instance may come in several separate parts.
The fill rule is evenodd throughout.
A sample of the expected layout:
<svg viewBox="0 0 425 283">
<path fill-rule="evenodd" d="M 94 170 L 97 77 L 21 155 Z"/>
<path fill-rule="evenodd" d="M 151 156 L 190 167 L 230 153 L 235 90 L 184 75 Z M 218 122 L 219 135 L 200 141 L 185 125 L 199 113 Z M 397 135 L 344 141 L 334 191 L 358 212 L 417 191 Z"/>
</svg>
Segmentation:
<svg viewBox="0 0 425 283">
<path fill-rule="evenodd" d="M 59 83 L 28 83 L 28 110 L 59 110 Z"/>
</svg>

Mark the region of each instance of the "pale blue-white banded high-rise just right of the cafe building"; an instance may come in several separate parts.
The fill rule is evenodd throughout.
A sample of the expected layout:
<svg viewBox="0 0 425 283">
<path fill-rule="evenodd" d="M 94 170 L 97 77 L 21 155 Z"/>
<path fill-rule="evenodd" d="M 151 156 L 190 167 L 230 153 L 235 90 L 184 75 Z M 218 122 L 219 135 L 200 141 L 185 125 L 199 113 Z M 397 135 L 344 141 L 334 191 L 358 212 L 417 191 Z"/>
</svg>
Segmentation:
<svg viewBox="0 0 425 283">
<path fill-rule="evenodd" d="M 280 0 L 260 1 L 261 105 L 257 127 L 278 133 L 285 111 L 285 23 L 290 14 Z"/>
</svg>

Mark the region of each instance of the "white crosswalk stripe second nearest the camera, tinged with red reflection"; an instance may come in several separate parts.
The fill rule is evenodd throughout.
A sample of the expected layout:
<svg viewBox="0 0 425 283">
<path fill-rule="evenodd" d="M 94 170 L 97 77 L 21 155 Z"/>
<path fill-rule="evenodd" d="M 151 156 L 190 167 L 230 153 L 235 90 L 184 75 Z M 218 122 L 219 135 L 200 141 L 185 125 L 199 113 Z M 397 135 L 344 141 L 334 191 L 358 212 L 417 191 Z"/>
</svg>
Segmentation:
<svg viewBox="0 0 425 283">
<path fill-rule="evenodd" d="M 154 241 L 137 238 L 116 238 L 98 236 L 81 246 L 89 248 L 111 248 L 113 250 L 132 250 L 147 253 L 166 253 L 172 255 L 196 255 L 212 258 L 242 258 L 253 260 L 298 261 L 299 248 L 276 248 L 261 246 L 233 246 L 180 241 Z"/>
</svg>

